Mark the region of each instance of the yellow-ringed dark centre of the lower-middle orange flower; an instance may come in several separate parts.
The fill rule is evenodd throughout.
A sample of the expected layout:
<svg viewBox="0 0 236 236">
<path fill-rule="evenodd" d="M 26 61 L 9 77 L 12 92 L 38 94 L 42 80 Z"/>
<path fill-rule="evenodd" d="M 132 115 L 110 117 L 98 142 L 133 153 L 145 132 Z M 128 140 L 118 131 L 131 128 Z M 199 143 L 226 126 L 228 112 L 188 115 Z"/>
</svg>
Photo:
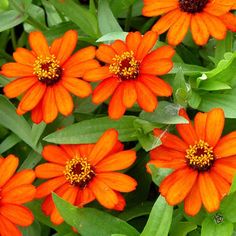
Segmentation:
<svg viewBox="0 0 236 236">
<path fill-rule="evenodd" d="M 87 158 L 75 157 L 67 161 L 64 175 L 70 184 L 83 189 L 95 176 L 95 172 Z"/>
</svg>

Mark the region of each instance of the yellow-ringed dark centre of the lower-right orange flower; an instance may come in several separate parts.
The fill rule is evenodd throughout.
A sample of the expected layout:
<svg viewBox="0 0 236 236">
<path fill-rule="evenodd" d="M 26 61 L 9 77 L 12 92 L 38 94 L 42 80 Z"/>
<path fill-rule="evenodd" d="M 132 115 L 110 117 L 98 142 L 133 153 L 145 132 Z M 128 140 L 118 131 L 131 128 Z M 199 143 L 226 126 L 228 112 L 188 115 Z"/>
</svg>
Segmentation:
<svg viewBox="0 0 236 236">
<path fill-rule="evenodd" d="M 195 145 L 190 145 L 186 150 L 186 160 L 188 165 L 194 170 L 206 171 L 214 163 L 215 156 L 213 148 L 208 143 L 200 140 Z"/>
</svg>

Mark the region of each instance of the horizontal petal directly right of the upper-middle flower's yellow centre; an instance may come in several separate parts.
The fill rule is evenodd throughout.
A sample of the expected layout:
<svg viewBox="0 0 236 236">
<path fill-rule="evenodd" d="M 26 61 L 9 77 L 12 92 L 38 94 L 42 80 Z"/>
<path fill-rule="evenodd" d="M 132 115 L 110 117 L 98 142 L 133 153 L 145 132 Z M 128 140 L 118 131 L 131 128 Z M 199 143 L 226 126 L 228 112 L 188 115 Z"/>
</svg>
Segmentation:
<svg viewBox="0 0 236 236">
<path fill-rule="evenodd" d="M 145 59 L 140 65 L 140 72 L 150 75 L 165 75 L 173 67 L 173 62 L 170 59 L 148 60 Z"/>
</svg>

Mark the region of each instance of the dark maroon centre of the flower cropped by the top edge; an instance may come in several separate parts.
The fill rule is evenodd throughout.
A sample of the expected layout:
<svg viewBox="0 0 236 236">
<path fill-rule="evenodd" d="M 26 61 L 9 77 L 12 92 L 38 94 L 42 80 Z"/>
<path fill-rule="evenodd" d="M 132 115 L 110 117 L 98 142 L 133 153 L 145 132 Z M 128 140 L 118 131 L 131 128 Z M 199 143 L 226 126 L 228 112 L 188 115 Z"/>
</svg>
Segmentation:
<svg viewBox="0 0 236 236">
<path fill-rule="evenodd" d="M 202 12 L 209 0 L 179 0 L 180 9 L 188 13 Z"/>
</svg>

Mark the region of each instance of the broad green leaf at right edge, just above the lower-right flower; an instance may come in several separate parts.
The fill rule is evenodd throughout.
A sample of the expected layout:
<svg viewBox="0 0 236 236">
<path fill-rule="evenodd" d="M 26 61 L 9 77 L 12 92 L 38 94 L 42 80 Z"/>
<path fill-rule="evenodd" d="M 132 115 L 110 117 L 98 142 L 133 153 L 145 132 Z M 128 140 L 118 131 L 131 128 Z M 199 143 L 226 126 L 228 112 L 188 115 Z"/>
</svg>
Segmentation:
<svg viewBox="0 0 236 236">
<path fill-rule="evenodd" d="M 199 110 L 208 112 L 210 109 L 219 107 L 225 112 L 227 118 L 236 118 L 236 89 L 227 92 L 215 92 L 203 94 Z"/>
</svg>

